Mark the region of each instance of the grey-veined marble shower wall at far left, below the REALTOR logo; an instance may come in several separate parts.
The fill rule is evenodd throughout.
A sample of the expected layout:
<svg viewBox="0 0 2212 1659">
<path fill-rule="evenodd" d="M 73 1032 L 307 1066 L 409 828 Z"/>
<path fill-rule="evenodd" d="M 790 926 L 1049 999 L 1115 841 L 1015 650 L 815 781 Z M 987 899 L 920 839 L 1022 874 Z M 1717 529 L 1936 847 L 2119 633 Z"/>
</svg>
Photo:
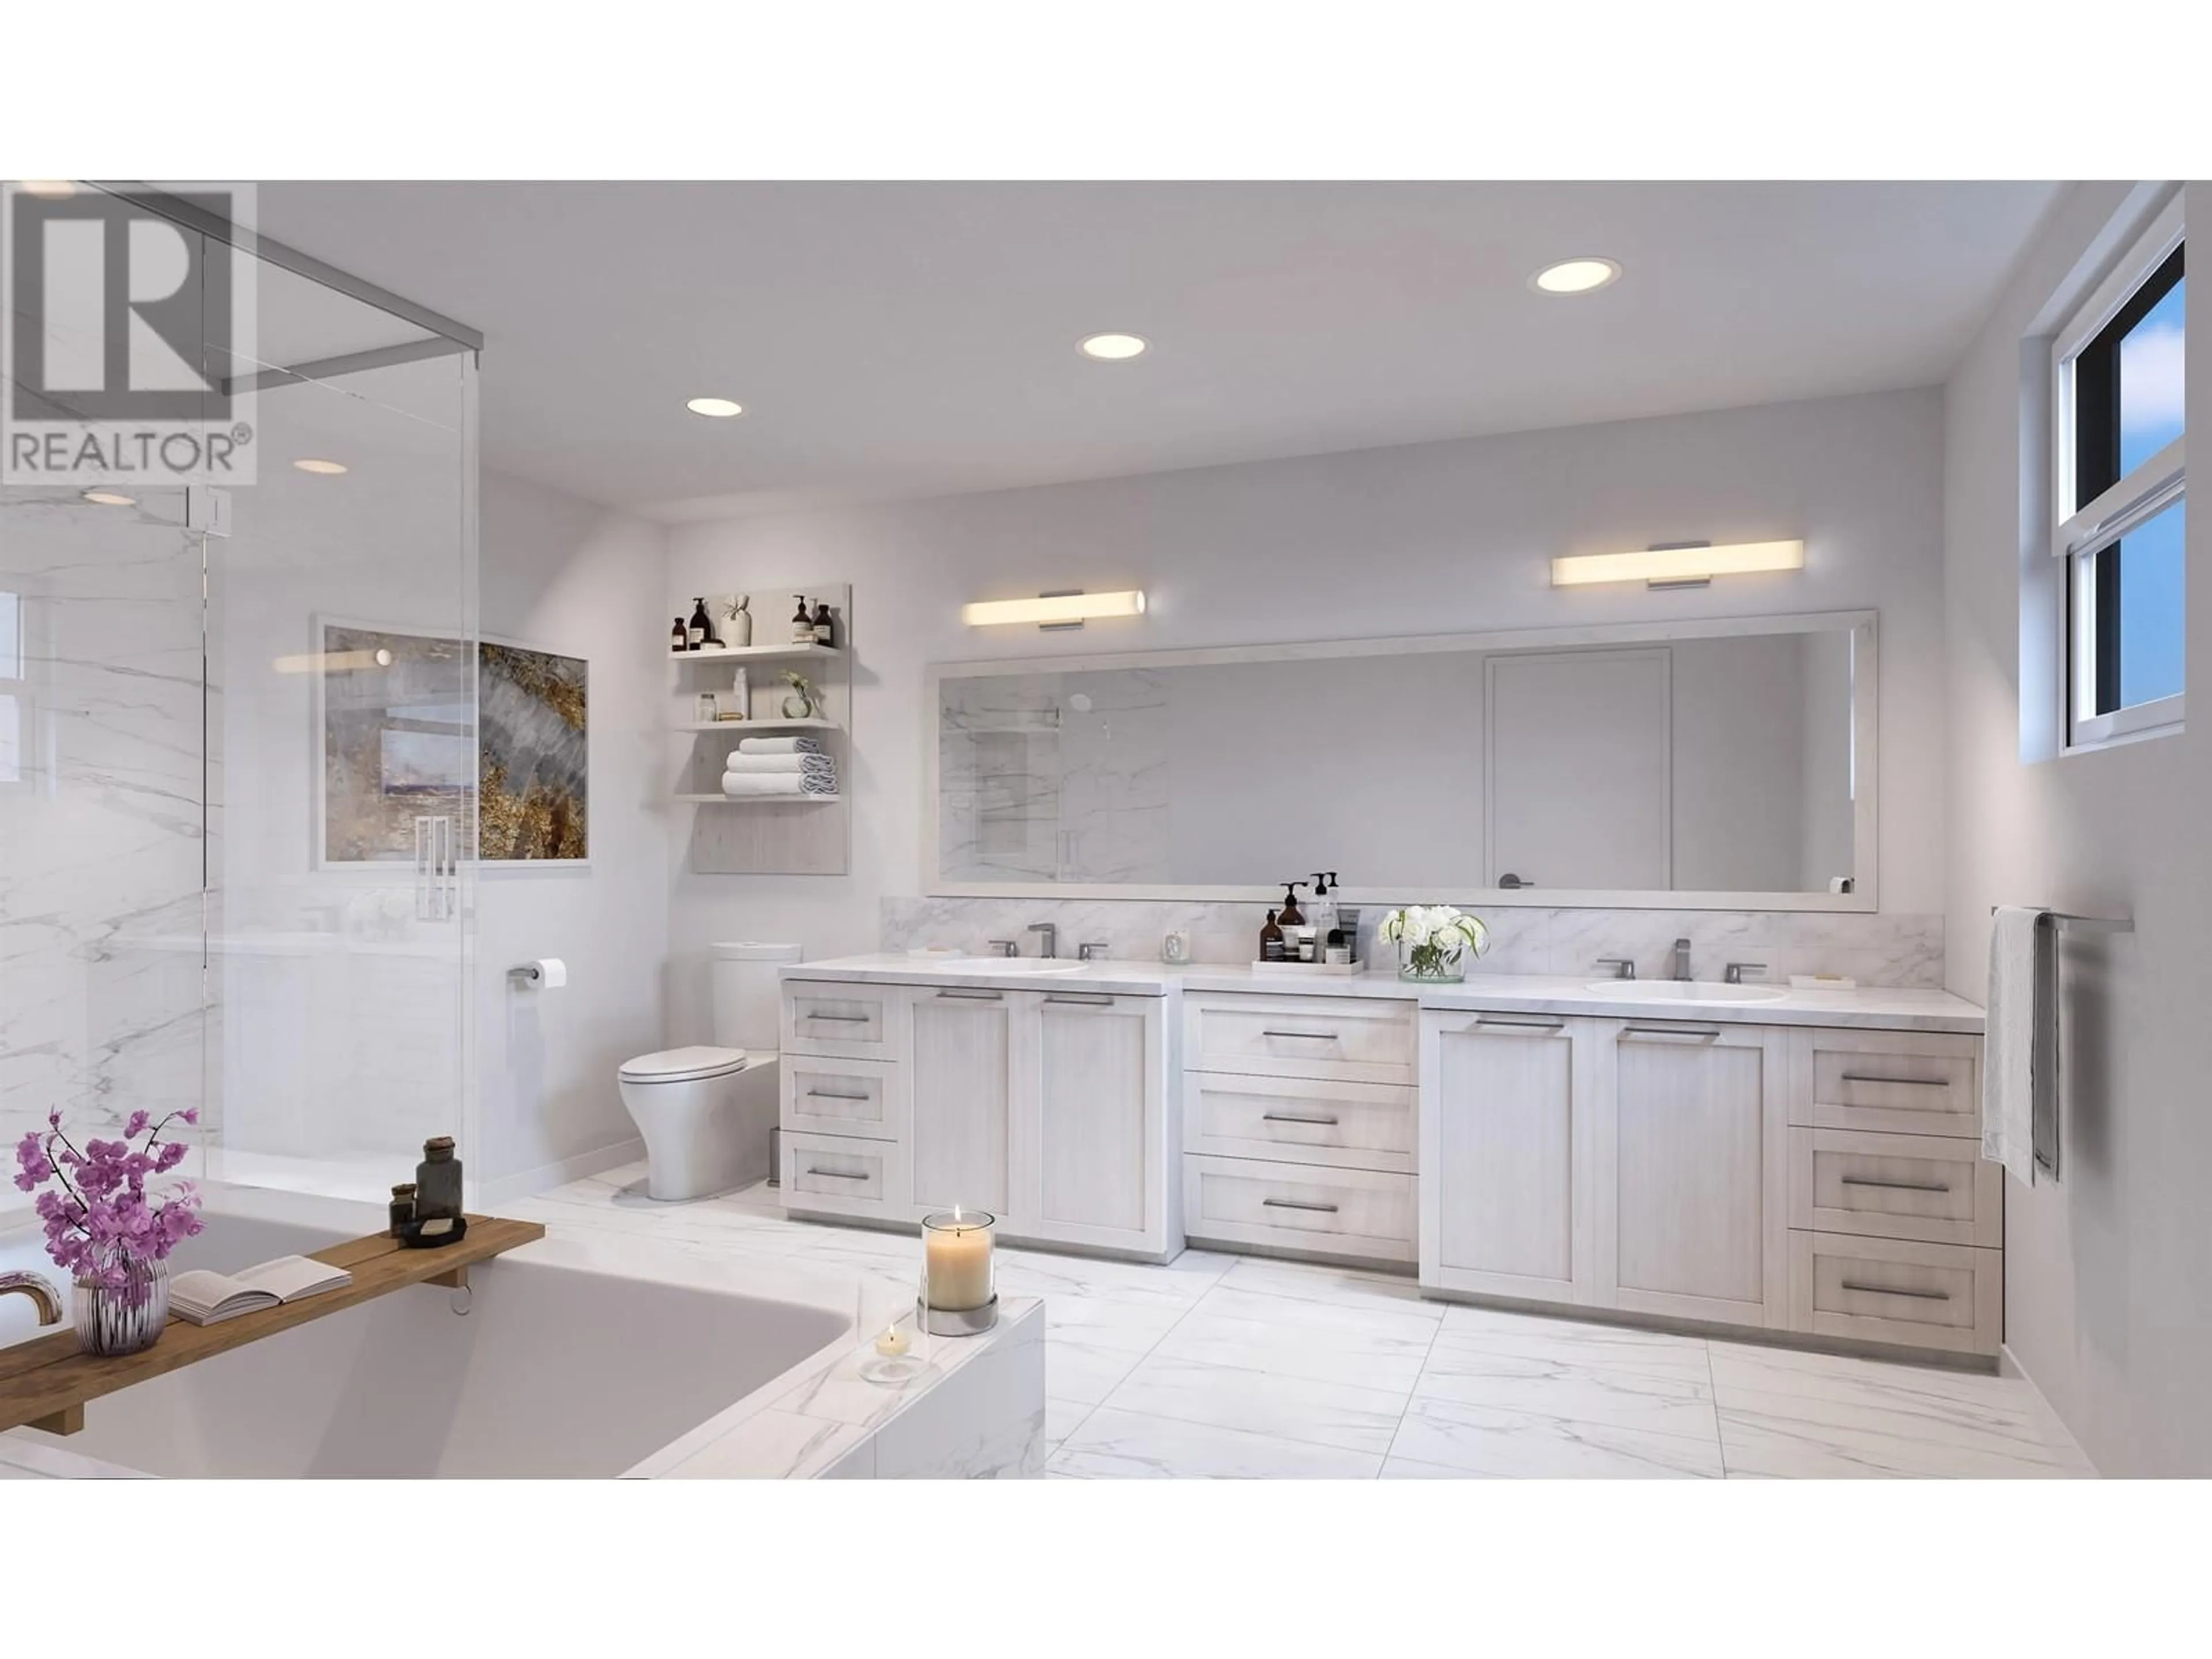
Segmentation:
<svg viewBox="0 0 2212 1659">
<path fill-rule="evenodd" d="M 0 1144 L 199 1104 L 210 761 L 201 560 L 153 509 L 27 500 L 0 524 Z M 20 1194 L 0 1192 L 0 1206 Z"/>
</svg>

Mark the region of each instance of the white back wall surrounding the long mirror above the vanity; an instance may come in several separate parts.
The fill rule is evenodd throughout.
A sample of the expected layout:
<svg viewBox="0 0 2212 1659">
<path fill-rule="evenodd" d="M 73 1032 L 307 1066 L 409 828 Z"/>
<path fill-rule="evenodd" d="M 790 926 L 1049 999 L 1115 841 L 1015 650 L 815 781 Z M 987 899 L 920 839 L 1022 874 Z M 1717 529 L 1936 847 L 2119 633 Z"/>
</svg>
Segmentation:
<svg viewBox="0 0 2212 1659">
<path fill-rule="evenodd" d="M 1933 389 L 679 526 L 672 593 L 852 582 L 858 666 L 852 874 L 675 869 L 672 1035 L 703 1031 L 710 940 L 863 951 L 876 945 L 878 900 L 922 891 L 920 688 L 931 661 L 1878 608 L 1880 900 L 1885 911 L 1933 911 L 1940 533 Z M 1807 542 L 1798 575 L 1674 593 L 1548 586 L 1555 553 L 1783 535 Z M 1150 611 L 1073 635 L 960 624 L 964 599 L 1071 586 L 1144 586 Z M 657 648 L 666 626 L 661 617 L 639 635 L 639 648 Z"/>
</svg>

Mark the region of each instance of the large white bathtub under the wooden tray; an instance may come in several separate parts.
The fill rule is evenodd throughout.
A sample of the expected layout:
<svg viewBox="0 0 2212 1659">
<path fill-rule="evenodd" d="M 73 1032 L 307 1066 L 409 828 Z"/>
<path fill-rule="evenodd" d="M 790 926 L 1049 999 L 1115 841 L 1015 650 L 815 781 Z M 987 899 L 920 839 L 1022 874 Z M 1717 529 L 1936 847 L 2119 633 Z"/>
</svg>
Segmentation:
<svg viewBox="0 0 2212 1659">
<path fill-rule="evenodd" d="M 372 1206 L 210 1194 L 206 1232 L 173 1267 L 305 1254 L 380 1219 Z M 7 1267 L 55 1276 L 35 1230 L 0 1234 Z M 876 1281 L 611 1234 L 551 1234 L 473 1265 L 469 1281 L 378 1296 L 104 1396 L 69 1438 L 13 1429 L 0 1462 L 181 1478 L 681 1473 L 672 1453 L 754 1413 L 790 1416 L 779 1407 L 794 1389 L 852 1363 L 856 1329 L 909 1312 Z M 29 1334 L 29 1312 L 27 1298 L 0 1301 L 0 1343 Z M 1037 1394 L 1042 1416 L 1042 1349 Z"/>
</svg>

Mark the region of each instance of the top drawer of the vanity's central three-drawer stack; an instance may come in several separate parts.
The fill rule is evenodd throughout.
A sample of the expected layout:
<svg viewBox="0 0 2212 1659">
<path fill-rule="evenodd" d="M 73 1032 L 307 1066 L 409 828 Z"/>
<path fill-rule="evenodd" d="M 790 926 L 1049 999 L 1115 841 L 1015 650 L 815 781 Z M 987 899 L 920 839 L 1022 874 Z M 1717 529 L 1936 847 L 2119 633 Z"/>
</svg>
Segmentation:
<svg viewBox="0 0 2212 1659">
<path fill-rule="evenodd" d="M 1248 1077 L 1411 1084 L 1409 1000 L 1194 995 L 1183 1000 L 1183 1064 Z"/>
</svg>

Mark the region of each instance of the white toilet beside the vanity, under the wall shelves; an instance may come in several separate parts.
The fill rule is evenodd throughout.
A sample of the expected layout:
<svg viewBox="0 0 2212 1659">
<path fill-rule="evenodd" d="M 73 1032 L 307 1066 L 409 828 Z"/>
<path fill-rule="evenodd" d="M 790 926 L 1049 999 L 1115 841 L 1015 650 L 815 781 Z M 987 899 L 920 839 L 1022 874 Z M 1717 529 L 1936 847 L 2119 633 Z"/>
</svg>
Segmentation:
<svg viewBox="0 0 2212 1659">
<path fill-rule="evenodd" d="M 712 945 L 714 1046 L 626 1060 L 622 1104 L 646 1141 L 646 1197 L 679 1201 L 770 1172 L 776 1128 L 776 971 L 796 945 Z"/>
</svg>

